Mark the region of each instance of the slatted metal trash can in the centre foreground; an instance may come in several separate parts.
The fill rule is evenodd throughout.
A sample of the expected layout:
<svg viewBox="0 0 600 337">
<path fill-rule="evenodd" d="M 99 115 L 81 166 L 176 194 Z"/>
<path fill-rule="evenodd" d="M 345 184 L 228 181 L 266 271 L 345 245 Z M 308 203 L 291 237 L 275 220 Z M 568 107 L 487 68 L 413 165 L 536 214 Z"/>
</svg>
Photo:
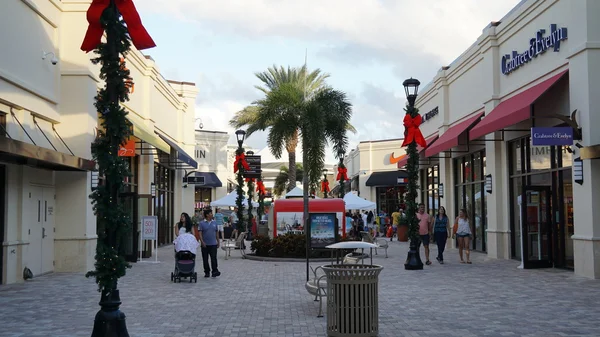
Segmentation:
<svg viewBox="0 0 600 337">
<path fill-rule="evenodd" d="M 323 266 L 327 276 L 327 336 L 379 334 L 379 273 L 382 266 Z"/>
</svg>

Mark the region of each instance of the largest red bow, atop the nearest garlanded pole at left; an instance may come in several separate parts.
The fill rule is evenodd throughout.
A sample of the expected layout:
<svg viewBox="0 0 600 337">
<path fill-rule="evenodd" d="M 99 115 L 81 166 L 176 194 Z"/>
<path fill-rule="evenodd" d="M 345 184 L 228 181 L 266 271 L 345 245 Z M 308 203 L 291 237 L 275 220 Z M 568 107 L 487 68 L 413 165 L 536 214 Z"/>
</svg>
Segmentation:
<svg viewBox="0 0 600 337">
<path fill-rule="evenodd" d="M 133 0 L 114 1 L 117 9 L 119 9 L 119 13 L 123 16 L 123 20 L 127 23 L 127 30 L 129 31 L 129 37 L 131 37 L 133 45 L 138 50 L 155 47 L 154 40 L 152 40 L 146 28 L 142 25 L 142 19 L 140 19 L 140 15 L 135 9 Z M 96 49 L 100 42 L 102 42 L 104 27 L 100 23 L 100 17 L 108 6 L 110 6 L 110 0 L 93 0 L 87 11 L 89 26 L 81 44 L 81 50 L 86 53 Z"/>
</svg>

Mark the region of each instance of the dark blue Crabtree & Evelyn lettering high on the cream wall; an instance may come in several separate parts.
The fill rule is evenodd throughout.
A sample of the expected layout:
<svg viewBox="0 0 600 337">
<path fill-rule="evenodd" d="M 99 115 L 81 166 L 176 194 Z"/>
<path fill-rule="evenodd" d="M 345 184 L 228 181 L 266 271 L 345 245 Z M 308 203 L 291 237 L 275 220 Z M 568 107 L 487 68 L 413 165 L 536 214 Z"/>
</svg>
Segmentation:
<svg viewBox="0 0 600 337">
<path fill-rule="evenodd" d="M 529 49 L 524 52 L 514 50 L 512 55 L 502 56 L 502 73 L 510 74 L 550 48 L 553 48 L 554 52 L 560 51 L 560 41 L 568 38 L 567 28 L 558 28 L 556 24 L 550 25 L 550 35 L 544 36 L 545 33 L 545 29 L 540 29 L 535 38 L 529 40 Z"/>
</svg>

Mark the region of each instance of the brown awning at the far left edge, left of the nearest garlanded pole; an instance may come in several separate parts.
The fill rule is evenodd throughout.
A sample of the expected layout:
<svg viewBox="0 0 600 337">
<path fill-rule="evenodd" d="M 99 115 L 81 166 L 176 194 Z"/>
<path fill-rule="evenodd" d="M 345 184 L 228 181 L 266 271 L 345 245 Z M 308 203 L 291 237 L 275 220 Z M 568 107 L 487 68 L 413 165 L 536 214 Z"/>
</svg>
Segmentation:
<svg viewBox="0 0 600 337">
<path fill-rule="evenodd" d="M 0 161 L 52 171 L 93 171 L 96 163 L 9 137 L 0 137 Z"/>
</svg>

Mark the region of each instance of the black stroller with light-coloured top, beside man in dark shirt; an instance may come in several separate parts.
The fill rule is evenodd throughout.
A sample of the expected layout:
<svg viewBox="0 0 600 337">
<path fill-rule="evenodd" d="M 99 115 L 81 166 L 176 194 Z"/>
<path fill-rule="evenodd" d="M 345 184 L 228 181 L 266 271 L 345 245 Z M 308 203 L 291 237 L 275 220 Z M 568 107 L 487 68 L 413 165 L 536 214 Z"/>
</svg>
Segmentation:
<svg viewBox="0 0 600 337">
<path fill-rule="evenodd" d="M 181 283 L 181 278 L 190 279 L 198 282 L 198 273 L 196 273 L 196 250 L 198 249 L 198 240 L 192 233 L 192 224 L 186 224 L 185 233 L 181 233 L 173 241 L 175 244 L 175 270 L 171 273 L 171 281 Z"/>
</svg>

